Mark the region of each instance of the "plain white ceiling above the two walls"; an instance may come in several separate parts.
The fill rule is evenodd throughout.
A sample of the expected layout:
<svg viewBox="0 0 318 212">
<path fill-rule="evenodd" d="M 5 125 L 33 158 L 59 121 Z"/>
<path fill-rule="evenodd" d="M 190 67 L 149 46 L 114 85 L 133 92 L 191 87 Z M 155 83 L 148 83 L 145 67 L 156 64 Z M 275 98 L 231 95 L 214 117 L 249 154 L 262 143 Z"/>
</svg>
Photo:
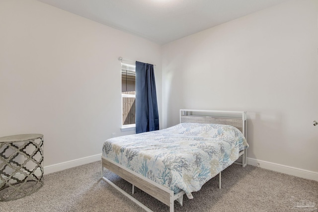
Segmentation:
<svg viewBox="0 0 318 212">
<path fill-rule="evenodd" d="M 39 0 L 165 44 L 286 0 Z"/>
</svg>

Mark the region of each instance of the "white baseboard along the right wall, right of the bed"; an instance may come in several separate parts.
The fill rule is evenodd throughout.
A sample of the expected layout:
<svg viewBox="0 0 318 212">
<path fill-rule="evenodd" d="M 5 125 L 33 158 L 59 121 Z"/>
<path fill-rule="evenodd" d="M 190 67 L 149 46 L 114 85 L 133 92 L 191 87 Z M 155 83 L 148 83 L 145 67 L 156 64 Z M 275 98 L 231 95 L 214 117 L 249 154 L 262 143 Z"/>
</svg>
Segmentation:
<svg viewBox="0 0 318 212">
<path fill-rule="evenodd" d="M 247 157 L 247 164 L 252 166 L 257 166 L 264 169 L 269 169 L 272 171 L 281 172 L 284 174 L 293 175 L 296 177 L 302 177 L 309 180 L 318 181 L 318 172 L 309 171 L 305 169 L 295 168 L 291 166 L 285 166 L 277 163 L 267 162 L 263 160 L 257 160 L 254 158 Z"/>
</svg>

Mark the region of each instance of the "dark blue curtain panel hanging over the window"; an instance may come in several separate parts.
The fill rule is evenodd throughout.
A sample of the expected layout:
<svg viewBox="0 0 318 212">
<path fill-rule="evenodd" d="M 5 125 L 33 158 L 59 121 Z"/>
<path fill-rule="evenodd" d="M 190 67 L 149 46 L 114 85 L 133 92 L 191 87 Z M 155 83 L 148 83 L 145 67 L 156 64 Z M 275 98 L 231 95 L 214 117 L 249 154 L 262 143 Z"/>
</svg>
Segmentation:
<svg viewBox="0 0 318 212">
<path fill-rule="evenodd" d="M 154 65 L 136 61 L 136 133 L 159 130 Z"/>
</svg>

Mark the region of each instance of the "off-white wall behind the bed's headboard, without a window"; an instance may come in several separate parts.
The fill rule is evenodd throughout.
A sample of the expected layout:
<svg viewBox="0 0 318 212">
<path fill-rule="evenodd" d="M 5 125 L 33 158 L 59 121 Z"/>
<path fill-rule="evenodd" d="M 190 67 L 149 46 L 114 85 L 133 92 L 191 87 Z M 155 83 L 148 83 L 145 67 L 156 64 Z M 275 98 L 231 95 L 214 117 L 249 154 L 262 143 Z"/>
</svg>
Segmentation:
<svg viewBox="0 0 318 212">
<path fill-rule="evenodd" d="M 318 172 L 317 0 L 291 0 L 162 48 L 163 126 L 247 111 L 248 157 Z"/>
</svg>

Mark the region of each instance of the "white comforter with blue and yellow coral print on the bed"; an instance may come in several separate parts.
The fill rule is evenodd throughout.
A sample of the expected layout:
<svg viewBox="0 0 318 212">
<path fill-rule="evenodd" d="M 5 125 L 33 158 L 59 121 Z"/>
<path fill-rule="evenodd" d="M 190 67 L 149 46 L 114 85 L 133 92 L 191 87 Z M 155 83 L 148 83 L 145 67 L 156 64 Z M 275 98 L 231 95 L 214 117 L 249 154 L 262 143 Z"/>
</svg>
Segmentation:
<svg viewBox="0 0 318 212">
<path fill-rule="evenodd" d="M 248 144 L 235 127 L 181 123 L 173 127 L 108 139 L 103 156 L 174 193 L 199 191 L 204 183 L 239 158 Z"/>
</svg>

